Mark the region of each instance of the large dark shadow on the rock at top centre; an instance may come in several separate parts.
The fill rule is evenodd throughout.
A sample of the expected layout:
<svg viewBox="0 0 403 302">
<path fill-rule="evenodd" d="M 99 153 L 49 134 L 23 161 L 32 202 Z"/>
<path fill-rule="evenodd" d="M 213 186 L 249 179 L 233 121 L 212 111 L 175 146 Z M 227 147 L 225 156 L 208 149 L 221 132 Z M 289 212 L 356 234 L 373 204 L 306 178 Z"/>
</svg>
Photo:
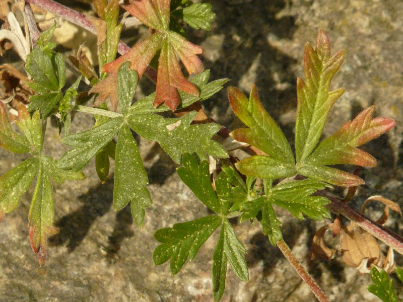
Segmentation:
<svg viewBox="0 0 403 302">
<path fill-rule="evenodd" d="M 205 55 L 209 59 L 205 60 L 205 67 L 211 69 L 211 79 L 230 78 L 231 86 L 247 94 L 255 84 L 263 106 L 275 119 L 296 107 L 296 75 L 290 69 L 296 61 L 273 46 L 281 39 L 291 39 L 296 30 L 294 17 L 278 15 L 287 9 L 285 1 L 209 2 L 217 17 L 213 31 L 207 35 L 223 39 L 216 59 L 209 59 L 208 53 Z M 208 48 L 206 45 L 211 38 L 203 43 L 204 32 L 195 31 L 193 35 L 191 41 Z M 208 111 L 220 112 L 213 117 L 228 126 L 231 111 L 226 100 L 227 93 L 223 90 L 204 104 Z"/>
</svg>

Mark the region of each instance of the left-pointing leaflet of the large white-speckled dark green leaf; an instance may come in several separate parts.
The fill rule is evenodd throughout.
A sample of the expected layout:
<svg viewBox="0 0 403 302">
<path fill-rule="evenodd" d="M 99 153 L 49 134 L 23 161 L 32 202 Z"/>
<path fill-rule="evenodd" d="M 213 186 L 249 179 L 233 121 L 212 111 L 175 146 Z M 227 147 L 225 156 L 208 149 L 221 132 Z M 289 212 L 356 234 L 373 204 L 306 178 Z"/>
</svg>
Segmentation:
<svg viewBox="0 0 403 302">
<path fill-rule="evenodd" d="M 73 147 L 60 159 L 60 169 L 83 169 L 93 157 L 113 138 L 123 122 L 122 117 L 116 117 L 107 122 L 81 133 L 65 136 L 62 142 Z"/>
</svg>

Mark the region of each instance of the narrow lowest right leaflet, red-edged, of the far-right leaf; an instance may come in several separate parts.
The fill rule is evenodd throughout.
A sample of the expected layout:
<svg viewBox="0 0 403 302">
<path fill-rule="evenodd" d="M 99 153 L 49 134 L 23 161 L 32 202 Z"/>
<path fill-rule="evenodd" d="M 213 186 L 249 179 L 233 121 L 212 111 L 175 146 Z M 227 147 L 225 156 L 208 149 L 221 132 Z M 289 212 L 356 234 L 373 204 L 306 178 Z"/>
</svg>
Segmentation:
<svg viewBox="0 0 403 302">
<path fill-rule="evenodd" d="M 326 166 L 307 165 L 299 168 L 298 174 L 316 178 L 335 186 L 353 187 L 364 184 L 364 181 L 354 174 Z"/>
</svg>

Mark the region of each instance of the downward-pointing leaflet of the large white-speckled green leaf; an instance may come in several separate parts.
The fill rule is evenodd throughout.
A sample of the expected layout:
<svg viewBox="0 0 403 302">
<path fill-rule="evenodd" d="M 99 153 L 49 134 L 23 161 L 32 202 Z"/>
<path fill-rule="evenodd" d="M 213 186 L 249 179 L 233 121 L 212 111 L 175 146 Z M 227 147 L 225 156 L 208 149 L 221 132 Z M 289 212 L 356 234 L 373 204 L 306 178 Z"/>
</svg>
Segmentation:
<svg viewBox="0 0 403 302">
<path fill-rule="evenodd" d="M 143 167 L 139 148 L 129 127 L 123 124 L 116 144 L 113 205 L 115 210 L 120 210 L 131 201 L 132 214 L 139 226 L 143 224 L 144 208 L 152 205 L 147 184 L 147 173 Z"/>
</svg>

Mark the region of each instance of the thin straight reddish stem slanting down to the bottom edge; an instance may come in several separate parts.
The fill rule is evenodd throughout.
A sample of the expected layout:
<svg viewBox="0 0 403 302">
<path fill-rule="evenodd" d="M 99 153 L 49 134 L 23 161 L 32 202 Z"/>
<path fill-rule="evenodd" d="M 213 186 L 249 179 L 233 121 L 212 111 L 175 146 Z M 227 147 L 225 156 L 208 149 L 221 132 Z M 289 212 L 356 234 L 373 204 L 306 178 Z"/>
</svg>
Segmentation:
<svg viewBox="0 0 403 302">
<path fill-rule="evenodd" d="M 288 245 L 284 242 L 284 240 L 276 241 L 277 246 L 279 247 L 280 251 L 283 255 L 287 258 L 288 262 L 294 267 L 297 271 L 298 275 L 301 277 L 302 280 L 309 286 L 310 290 L 315 294 L 317 299 L 320 302 L 329 302 L 329 299 L 326 297 L 323 290 L 319 287 L 316 281 L 309 275 L 305 267 L 295 258 L 293 252 L 288 247 Z"/>
</svg>

